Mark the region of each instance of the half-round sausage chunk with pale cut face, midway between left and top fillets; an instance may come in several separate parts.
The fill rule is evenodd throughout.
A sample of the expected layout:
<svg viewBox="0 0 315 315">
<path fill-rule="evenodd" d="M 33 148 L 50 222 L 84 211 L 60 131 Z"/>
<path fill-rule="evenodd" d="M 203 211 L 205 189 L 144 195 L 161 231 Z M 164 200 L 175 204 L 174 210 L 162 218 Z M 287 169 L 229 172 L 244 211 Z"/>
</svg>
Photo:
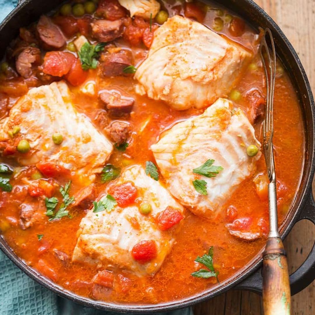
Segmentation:
<svg viewBox="0 0 315 315">
<path fill-rule="evenodd" d="M 135 99 L 122 97 L 116 92 L 102 92 L 100 94 L 101 101 L 106 105 L 113 114 L 130 113 Z"/>
</svg>

